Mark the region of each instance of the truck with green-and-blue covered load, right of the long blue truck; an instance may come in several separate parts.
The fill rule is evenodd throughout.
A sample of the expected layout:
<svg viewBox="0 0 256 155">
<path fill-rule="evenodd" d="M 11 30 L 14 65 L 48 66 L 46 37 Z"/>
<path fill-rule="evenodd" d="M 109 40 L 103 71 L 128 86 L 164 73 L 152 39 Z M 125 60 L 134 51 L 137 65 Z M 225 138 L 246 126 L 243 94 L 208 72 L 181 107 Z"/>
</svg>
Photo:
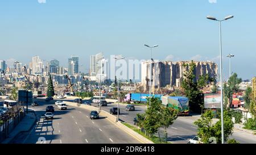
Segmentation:
<svg viewBox="0 0 256 155">
<path fill-rule="evenodd" d="M 162 96 L 162 104 L 179 110 L 179 115 L 189 115 L 189 99 L 185 97 Z"/>
</svg>

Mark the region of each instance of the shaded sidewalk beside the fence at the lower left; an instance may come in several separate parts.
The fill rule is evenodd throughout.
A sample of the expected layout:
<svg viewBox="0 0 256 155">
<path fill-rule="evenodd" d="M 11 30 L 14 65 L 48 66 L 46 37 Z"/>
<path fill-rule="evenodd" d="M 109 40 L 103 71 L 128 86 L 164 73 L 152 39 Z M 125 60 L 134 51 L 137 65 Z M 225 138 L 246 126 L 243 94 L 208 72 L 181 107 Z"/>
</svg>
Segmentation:
<svg viewBox="0 0 256 155">
<path fill-rule="evenodd" d="M 34 112 L 28 112 L 22 121 L 14 128 L 9 136 L 2 142 L 2 144 L 9 144 L 19 133 L 28 132 L 36 122 Z"/>
</svg>

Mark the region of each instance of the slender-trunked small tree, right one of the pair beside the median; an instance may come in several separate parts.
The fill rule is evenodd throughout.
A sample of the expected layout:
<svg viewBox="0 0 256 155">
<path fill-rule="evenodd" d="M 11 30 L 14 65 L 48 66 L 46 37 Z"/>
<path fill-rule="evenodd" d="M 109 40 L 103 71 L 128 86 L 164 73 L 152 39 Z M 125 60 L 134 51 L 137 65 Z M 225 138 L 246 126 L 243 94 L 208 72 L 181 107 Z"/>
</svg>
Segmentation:
<svg viewBox="0 0 256 155">
<path fill-rule="evenodd" d="M 164 107 L 164 106 L 160 108 L 160 126 L 164 128 L 166 141 L 168 137 L 167 128 L 170 125 L 174 124 L 174 121 L 177 119 L 178 114 L 179 114 L 179 111 L 173 108 Z"/>
</svg>

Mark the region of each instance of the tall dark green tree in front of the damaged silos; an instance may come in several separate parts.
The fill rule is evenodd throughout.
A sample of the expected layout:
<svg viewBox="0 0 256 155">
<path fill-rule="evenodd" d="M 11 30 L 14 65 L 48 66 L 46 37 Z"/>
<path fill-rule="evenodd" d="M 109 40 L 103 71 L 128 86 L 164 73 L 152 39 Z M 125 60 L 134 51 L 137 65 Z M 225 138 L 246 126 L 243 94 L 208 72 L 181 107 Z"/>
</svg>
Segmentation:
<svg viewBox="0 0 256 155">
<path fill-rule="evenodd" d="M 189 98 L 189 108 L 192 112 L 200 113 L 204 107 L 204 94 L 201 89 L 207 85 L 209 76 L 200 76 L 196 81 L 196 64 L 191 61 L 190 64 L 185 64 L 185 67 L 189 69 L 184 73 L 184 79 L 181 87 L 184 89 L 185 96 Z"/>
</svg>

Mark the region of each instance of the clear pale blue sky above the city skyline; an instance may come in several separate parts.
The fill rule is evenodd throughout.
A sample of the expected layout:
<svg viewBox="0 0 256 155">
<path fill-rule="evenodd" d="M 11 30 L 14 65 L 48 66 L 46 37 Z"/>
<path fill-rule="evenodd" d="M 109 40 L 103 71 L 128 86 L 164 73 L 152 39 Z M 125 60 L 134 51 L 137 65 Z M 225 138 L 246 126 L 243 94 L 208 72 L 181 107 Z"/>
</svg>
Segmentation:
<svg viewBox="0 0 256 155">
<path fill-rule="evenodd" d="M 8 0 L 0 1 L 0 60 L 27 64 L 31 57 L 57 58 L 67 66 L 80 56 L 88 72 L 89 56 L 122 54 L 149 58 L 143 44 L 159 47 L 158 60 L 219 62 L 218 23 L 207 15 L 235 18 L 222 24 L 223 54 L 233 58 L 233 72 L 243 79 L 256 76 L 256 1 L 254 0 Z M 224 57 L 224 76 L 228 77 Z"/>
</svg>

